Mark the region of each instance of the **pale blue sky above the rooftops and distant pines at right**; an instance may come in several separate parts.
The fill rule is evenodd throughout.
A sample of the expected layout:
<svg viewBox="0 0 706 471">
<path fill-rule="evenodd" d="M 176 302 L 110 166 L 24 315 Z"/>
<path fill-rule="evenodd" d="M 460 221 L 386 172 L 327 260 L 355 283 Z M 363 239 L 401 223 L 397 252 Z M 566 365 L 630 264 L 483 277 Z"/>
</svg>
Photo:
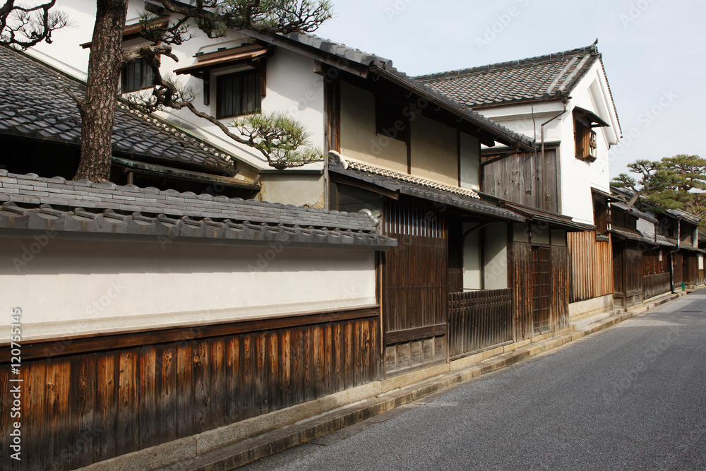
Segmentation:
<svg viewBox="0 0 706 471">
<path fill-rule="evenodd" d="M 704 0 L 333 0 L 316 32 L 416 76 L 585 47 L 599 52 L 623 140 L 611 177 L 638 159 L 706 157 Z"/>
</svg>

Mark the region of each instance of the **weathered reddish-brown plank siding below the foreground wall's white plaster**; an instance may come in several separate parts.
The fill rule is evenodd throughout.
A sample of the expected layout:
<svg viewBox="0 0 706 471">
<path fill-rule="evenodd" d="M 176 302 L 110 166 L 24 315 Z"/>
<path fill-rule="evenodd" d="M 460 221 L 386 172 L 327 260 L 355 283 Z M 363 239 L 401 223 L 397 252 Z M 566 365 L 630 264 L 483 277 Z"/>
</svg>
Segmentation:
<svg viewBox="0 0 706 471">
<path fill-rule="evenodd" d="M 74 469 L 381 379 L 378 311 L 358 316 L 49 358 L 25 345 L 23 460 L 4 413 L 0 469 Z M 4 412 L 9 372 L 0 364 Z"/>
</svg>

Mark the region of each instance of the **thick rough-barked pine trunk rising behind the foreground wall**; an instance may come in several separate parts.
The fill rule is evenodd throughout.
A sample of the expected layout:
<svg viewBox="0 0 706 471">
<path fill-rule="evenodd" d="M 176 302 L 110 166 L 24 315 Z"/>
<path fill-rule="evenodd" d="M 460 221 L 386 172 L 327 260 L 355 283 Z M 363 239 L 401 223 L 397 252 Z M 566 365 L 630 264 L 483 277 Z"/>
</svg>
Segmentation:
<svg viewBox="0 0 706 471">
<path fill-rule="evenodd" d="M 85 99 L 80 102 L 81 158 L 74 180 L 110 177 L 112 131 L 128 0 L 97 0 Z"/>
</svg>

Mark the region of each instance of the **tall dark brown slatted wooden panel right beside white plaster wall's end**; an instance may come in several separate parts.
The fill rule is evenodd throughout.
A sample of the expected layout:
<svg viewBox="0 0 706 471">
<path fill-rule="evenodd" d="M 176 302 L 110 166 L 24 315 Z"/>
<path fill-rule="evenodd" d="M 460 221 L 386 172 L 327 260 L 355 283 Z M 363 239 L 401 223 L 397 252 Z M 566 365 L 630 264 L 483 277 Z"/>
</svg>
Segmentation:
<svg viewBox="0 0 706 471">
<path fill-rule="evenodd" d="M 444 216 L 441 209 L 431 205 L 385 203 L 384 231 L 398 242 L 397 247 L 381 254 L 388 374 L 391 368 L 417 366 L 426 363 L 425 359 L 437 362 L 448 352 L 448 230 Z M 435 354 L 422 354 L 419 363 L 407 361 L 407 352 L 414 356 L 419 342 L 424 347 L 423 341 L 432 339 Z M 396 345 L 402 343 L 409 345 Z"/>
</svg>

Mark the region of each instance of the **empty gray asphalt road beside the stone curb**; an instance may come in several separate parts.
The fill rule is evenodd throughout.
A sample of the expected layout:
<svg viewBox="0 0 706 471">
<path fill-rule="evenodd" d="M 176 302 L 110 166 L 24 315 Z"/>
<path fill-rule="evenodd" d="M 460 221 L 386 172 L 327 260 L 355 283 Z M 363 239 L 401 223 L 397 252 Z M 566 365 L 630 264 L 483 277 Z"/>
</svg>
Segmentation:
<svg viewBox="0 0 706 471">
<path fill-rule="evenodd" d="M 706 290 L 241 469 L 706 470 Z"/>
</svg>

